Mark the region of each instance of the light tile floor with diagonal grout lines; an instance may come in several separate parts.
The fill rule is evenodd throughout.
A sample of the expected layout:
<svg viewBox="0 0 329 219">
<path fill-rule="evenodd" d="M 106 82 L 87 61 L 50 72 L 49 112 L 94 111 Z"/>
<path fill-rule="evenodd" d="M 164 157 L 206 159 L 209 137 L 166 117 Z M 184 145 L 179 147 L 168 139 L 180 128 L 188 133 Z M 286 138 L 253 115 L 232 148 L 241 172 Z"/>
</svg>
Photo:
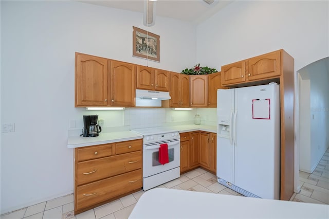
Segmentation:
<svg viewBox="0 0 329 219">
<path fill-rule="evenodd" d="M 291 196 L 290 200 L 295 202 L 329 204 L 329 149 L 323 155 L 313 174 L 299 172 L 301 191 Z M 196 169 L 182 174 L 178 179 L 169 181 L 158 187 L 183 189 L 199 192 L 210 192 L 225 195 L 241 195 L 221 184 L 217 183 L 216 176 L 203 170 Z M 144 191 L 138 191 L 127 195 L 111 203 L 74 215 L 73 194 L 52 199 L 37 205 L 29 206 L 7 214 L 0 215 L 2 219 L 7 218 L 56 218 L 56 219 L 108 219 L 127 218 L 139 197 Z"/>
</svg>

